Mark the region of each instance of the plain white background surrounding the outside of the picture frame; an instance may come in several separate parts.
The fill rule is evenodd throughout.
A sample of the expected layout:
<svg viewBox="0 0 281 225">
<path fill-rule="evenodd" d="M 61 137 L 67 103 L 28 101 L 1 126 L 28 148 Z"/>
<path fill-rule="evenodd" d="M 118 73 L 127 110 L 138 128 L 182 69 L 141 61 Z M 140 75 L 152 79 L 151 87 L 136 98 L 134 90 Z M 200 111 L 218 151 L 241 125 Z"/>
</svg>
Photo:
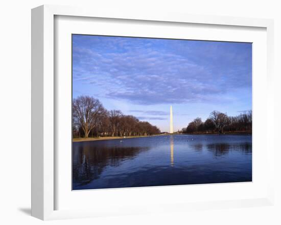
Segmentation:
<svg viewBox="0 0 281 225">
<path fill-rule="evenodd" d="M 91 2 L 91 5 L 89 4 Z M 1 216 L 2 224 L 42 224 L 30 216 L 31 173 L 31 13 L 42 4 L 77 5 L 170 11 L 191 14 L 229 15 L 275 19 L 275 92 L 280 95 L 281 7 L 278 1 L 6 1 L 0 7 L 0 118 L 1 118 Z M 118 9 L 116 9 L 118 10 Z M 279 75 L 279 77 L 278 77 Z M 262 90 L 261 90 L 262 91 Z M 277 97 L 276 97 L 277 98 Z M 275 99 L 280 102 L 279 99 Z M 280 131 L 280 107 L 275 108 L 275 139 Z M 277 145 L 276 145 L 277 147 Z M 276 203 L 273 207 L 224 209 L 171 213 L 165 215 L 103 217 L 82 220 L 48 221 L 49 224 L 280 224 L 281 154 L 276 152 Z"/>
</svg>

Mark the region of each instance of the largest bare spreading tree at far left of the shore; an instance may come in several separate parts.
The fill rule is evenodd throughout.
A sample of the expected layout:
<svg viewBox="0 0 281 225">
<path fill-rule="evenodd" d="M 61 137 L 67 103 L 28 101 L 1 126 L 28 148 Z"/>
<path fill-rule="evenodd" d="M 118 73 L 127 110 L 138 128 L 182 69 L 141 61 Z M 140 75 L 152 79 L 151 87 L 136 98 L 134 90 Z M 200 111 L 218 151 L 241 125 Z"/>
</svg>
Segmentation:
<svg viewBox="0 0 281 225">
<path fill-rule="evenodd" d="M 90 131 L 96 126 L 99 116 L 104 112 L 104 107 L 96 98 L 89 96 L 79 96 L 73 99 L 73 118 L 77 121 L 88 137 Z"/>
</svg>

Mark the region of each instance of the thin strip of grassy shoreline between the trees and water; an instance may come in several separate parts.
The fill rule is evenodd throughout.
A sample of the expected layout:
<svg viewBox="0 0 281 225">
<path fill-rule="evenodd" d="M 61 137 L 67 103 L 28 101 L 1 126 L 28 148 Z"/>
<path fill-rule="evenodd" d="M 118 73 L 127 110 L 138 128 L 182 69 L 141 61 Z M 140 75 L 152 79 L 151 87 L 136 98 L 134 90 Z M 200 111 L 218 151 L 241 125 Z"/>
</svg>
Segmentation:
<svg viewBox="0 0 281 225">
<path fill-rule="evenodd" d="M 128 139 L 128 138 L 142 138 L 142 137 L 155 137 L 155 136 L 170 136 L 170 135 L 207 135 L 207 134 L 213 134 L 213 135 L 251 135 L 252 132 L 229 132 L 224 134 L 218 134 L 218 133 L 167 133 L 167 134 L 157 134 L 157 135 L 150 135 L 150 136 L 126 136 L 126 137 L 120 137 L 120 136 L 107 136 L 107 137 L 74 137 L 72 139 L 72 142 L 91 142 L 96 140 L 114 140 L 114 139 Z"/>
</svg>

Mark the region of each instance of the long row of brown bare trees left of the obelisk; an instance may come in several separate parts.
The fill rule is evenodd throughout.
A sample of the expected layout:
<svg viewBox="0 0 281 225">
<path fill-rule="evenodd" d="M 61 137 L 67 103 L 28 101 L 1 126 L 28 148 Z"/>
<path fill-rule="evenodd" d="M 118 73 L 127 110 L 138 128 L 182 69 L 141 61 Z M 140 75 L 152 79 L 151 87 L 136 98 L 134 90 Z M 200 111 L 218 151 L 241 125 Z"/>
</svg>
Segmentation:
<svg viewBox="0 0 281 225">
<path fill-rule="evenodd" d="M 120 110 L 107 110 L 90 96 L 79 96 L 72 102 L 73 137 L 147 136 L 159 134 L 158 127 L 139 121 Z"/>
</svg>

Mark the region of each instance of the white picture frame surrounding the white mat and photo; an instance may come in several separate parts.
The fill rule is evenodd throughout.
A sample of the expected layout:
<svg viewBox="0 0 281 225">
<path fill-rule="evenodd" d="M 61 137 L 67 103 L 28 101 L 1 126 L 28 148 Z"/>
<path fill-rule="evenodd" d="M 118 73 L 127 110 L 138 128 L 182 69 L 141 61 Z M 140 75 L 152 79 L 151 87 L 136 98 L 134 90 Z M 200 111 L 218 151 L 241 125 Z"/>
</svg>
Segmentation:
<svg viewBox="0 0 281 225">
<path fill-rule="evenodd" d="M 32 9 L 32 215 L 49 220 L 62 218 L 93 217 L 104 215 L 121 215 L 118 210 L 97 211 L 95 209 L 55 210 L 57 176 L 56 166 L 56 129 L 55 110 L 57 105 L 55 95 L 55 16 L 79 16 L 92 18 L 112 18 L 145 20 L 174 23 L 217 24 L 226 26 L 263 27 L 266 29 L 266 129 L 273 130 L 273 20 L 251 19 L 237 17 L 198 16 L 176 13 L 145 13 L 126 11 L 105 11 L 100 9 L 84 9 L 44 5 Z M 266 135 L 267 161 L 269 171 L 273 170 L 274 144 L 273 137 Z M 271 173 L 273 174 L 273 173 Z M 269 175 L 268 194 L 263 198 L 220 200 L 211 202 L 167 202 L 146 207 L 129 207 L 124 205 L 125 214 L 146 212 L 184 211 L 190 209 L 231 208 L 257 205 L 272 205 L 273 177 Z M 171 187 L 173 188 L 173 187 Z M 136 190 L 136 189 L 135 189 Z M 137 191 L 137 190 L 136 190 Z M 134 191 L 135 192 L 135 191 Z M 126 198 L 126 196 L 124 196 Z M 126 210 L 127 209 L 127 210 Z"/>
</svg>

